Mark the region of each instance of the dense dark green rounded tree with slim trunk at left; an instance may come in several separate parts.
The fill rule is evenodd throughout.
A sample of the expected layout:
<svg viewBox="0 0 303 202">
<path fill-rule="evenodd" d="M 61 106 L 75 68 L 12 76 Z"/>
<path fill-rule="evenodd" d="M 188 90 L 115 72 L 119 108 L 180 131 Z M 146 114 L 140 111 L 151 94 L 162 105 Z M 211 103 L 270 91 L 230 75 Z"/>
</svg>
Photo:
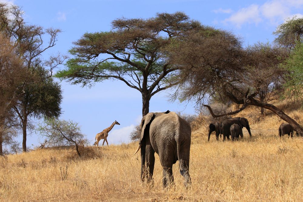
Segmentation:
<svg viewBox="0 0 303 202">
<path fill-rule="evenodd" d="M 55 117 L 61 114 L 62 90 L 57 82 L 47 77 L 47 71 L 38 71 L 32 84 L 27 84 L 20 93 L 13 109 L 18 114 L 22 126 L 22 149 L 26 151 L 28 118 Z M 40 81 L 38 81 L 40 80 Z"/>
</svg>

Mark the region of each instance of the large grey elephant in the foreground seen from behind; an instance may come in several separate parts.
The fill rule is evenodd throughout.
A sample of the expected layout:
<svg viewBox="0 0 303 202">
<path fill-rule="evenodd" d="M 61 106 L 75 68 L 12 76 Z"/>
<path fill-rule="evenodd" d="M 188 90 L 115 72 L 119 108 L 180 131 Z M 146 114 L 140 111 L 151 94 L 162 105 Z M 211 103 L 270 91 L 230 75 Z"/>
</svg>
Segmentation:
<svg viewBox="0 0 303 202">
<path fill-rule="evenodd" d="M 172 165 L 179 160 L 180 173 L 185 186 L 191 184 L 189 175 L 189 152 L 191 127 L 175 112 L 148 113 L 141 121 L 141 179 L 153 184 L 155 152 L 163 167 L 163 187 L 173 183 Z"/>
</svg>

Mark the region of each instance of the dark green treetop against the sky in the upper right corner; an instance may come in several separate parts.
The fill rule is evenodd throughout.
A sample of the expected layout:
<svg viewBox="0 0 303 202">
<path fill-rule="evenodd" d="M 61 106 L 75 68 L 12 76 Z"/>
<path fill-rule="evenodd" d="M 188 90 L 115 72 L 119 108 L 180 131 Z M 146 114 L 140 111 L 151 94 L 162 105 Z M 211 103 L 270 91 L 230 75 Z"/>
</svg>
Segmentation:
<svg viewBox="0 0 303 202">
<path fill-rule="evenodd" d="M 273 34 L 277 35 L 275 42 L 289 48 L 289 51 L 291 51 L 297 42 L 303 42 L 303 18 L 295 16 L 288 19 L 285 23 L 279 25 Z"/>
</svg>

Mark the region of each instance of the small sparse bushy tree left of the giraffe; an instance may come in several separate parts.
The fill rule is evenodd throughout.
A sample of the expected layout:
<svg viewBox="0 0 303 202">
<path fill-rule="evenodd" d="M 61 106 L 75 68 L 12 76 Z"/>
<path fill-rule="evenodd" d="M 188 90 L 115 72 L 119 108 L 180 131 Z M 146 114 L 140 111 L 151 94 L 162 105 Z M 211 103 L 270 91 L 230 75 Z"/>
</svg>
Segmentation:
<svg viewBox="0 0 303 202">
<path fill-rule="evenodd" d="M 75 145 L 79 157 L 79 144 L 88 143 L 82 134 L 78 123 L 73 121 L 59 120 L 55 118 L 45 119 L 43 124 L 39 125 L 40 134 L 47 137 L 47 144 L 50 146 Z"/>
</svg>

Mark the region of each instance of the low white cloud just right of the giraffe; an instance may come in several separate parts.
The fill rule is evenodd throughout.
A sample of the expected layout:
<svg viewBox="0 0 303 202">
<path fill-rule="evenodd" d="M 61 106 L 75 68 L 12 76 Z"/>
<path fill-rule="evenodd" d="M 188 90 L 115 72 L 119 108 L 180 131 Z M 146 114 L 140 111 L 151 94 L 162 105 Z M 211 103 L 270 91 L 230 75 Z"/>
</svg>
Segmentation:
<svg viewBox="0 0 303 202">
<path fill-rule="evenodd" d="M 135 129 L 135 125 L 132 124 L 130 126 L 122 127 L 119 129 L 113 129 L 108 134 L 108 144 L 121 144 L 121 143 L 129 143 L 131 141 L 129 135 Z M 101 144 L 103 140 L 100 140 Z M 99 142 L 99 145 L 100 145 Z M 105 143 L 106 144 L 106 143 Z"/>
</svg>

